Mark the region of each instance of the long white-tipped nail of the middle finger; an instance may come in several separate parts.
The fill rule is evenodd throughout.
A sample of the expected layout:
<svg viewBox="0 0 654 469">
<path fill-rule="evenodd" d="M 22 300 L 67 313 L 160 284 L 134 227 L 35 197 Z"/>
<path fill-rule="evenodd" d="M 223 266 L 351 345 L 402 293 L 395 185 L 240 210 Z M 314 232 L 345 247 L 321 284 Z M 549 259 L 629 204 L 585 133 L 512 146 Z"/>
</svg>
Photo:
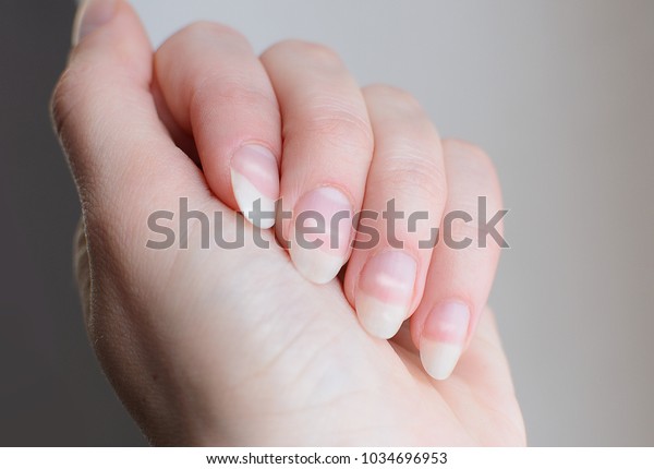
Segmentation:
<svg viewBox="0 0 654 469">
<path fill-rule="evenodd" d="M 338 275 L 350 251 L 349 199 L 335 188 L 315 189 L 295 205 L 292 224 L 290 254 L 295 268 L 314 284 L 327 284 Z"/>
</svg>

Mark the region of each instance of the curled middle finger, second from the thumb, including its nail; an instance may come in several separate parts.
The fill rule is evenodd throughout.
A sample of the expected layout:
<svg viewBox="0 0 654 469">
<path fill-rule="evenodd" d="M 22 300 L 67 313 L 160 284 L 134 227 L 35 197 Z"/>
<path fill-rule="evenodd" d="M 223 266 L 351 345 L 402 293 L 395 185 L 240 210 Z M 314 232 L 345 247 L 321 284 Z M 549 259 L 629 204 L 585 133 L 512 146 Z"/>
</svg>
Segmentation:
<svg viewBox="0 0 654 469">
<path fill-rule="evenodd" d="M 363 201 L 373 152 L 365 103 L 342 61 L 323 46 L 280 43 L 262 62 L 283 121 L 281 200 L 292 216 L 280 234 L 300 273 L 325 284 L 348 260 L 352 216 Z"/>
</svg>

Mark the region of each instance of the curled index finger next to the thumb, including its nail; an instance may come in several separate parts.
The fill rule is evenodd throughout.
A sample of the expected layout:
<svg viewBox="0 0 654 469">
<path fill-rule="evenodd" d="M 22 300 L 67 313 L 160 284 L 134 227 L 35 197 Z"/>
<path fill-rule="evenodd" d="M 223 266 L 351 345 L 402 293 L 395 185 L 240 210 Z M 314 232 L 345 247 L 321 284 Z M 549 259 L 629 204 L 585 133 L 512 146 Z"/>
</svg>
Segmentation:
<svg viewBox="0 0 654 469">
<path fill-rule="evenodd" d="M 235 31 L 201 22 L 156 52 L 157 80 L 174 119 L 195 137 L 214 194 L 254 224 L 275 224 L 281 130 L 268 76 Z M 266 217 L 254 213 L 266 212 Z"/>
</svg>

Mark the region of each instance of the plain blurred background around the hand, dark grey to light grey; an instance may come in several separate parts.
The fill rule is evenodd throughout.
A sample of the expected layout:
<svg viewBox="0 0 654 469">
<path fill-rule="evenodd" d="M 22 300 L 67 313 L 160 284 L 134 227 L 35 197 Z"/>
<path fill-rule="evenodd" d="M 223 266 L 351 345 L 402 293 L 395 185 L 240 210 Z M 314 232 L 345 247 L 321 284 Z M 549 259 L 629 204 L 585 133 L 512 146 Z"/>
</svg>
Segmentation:
<svg viewBox="0 0 654 469">
<path fill-rule="evenodd" d="M 494 158 L 491 299 L 531 445 L 654 445 L 654 2 L 133 0 L 155 45 L 194 20 L 255 49 L 339 51 Z M 50 129 L 75 4 L 0 2 L 0 446 L 144 445 L 87 345 L 76 194 Z"/>
</svg>

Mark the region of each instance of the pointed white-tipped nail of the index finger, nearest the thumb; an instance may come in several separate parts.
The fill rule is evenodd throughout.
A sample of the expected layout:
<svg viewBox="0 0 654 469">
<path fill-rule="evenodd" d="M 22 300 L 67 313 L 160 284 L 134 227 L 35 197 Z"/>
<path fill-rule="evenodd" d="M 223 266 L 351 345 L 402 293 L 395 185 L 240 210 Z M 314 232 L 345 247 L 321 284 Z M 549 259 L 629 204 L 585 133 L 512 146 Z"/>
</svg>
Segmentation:
<svg viewBox="0 0 654 469">
<path fill-rule="evenodd" d="M 272 227 L 275 201 L 279 197 L 275 155 L 262 145 L 242 146 L 232 156 L 230 172 L 234 197 L 245 218 L 261 228 Z"/>
</svg>

